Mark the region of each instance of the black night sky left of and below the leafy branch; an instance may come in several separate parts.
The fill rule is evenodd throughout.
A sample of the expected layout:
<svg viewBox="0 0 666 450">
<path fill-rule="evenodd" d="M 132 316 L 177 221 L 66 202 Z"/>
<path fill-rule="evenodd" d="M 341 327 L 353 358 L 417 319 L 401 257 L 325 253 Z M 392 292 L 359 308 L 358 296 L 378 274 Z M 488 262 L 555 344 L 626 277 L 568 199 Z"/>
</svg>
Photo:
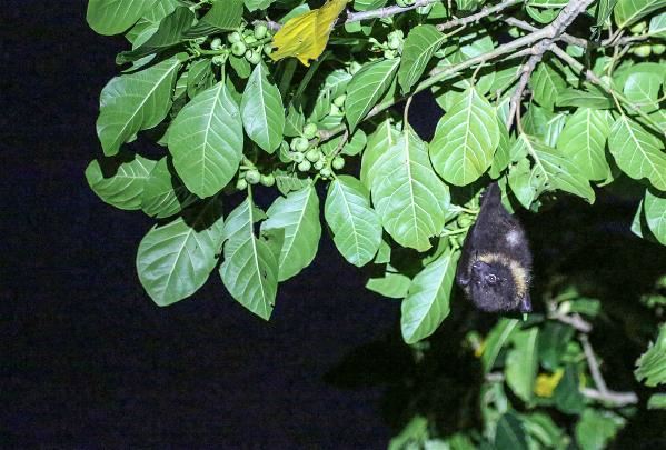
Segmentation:
<svg viewBox="0 0 666 450">
<path fill-rule="evenodd" d="M 102 203 L 99 91 L 125 42 L 85 1 L 4 1 L 0 19 L 3 444 L 384 448 L 381 388 L 324 381 L 395 330 L 399 303 L 366 291 L 326 238 L 256 318 L 213 272 L 167 309 L 135 254 L 151 220 Z M 326 234 L 326 233 L 325 233 Z"/>
</svg>

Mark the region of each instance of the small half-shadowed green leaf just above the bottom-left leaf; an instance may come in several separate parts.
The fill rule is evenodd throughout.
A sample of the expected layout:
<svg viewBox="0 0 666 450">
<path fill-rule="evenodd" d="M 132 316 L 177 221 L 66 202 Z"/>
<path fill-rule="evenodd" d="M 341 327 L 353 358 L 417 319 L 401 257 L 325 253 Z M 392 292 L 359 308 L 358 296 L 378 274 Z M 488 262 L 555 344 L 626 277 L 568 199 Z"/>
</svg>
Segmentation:
<svg viewBox="0 0 666 450">
<path fill-rule="evenodd" d="M 172 170 L 165 157 L 150 171 L 141 194 L 141 209 L 148 216 L 171 217 L 197 201 Z"/>
</svg>

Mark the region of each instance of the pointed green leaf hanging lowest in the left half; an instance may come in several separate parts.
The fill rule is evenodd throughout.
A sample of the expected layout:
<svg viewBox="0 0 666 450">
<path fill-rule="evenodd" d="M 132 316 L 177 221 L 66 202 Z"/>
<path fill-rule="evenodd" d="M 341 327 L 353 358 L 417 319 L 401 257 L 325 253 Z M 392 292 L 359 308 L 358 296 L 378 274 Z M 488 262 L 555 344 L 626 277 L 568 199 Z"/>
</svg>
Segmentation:
<svg viewBox="0 0 666 450">
<path fill-rule="evenodd" d="M 254 223 L 262 217 L 249 197 L 231 211 L 220 276 L 236 301 L 268 320 L 278 289 L 278 257 L 267 241 L 255 237 Z"/>
</svg>

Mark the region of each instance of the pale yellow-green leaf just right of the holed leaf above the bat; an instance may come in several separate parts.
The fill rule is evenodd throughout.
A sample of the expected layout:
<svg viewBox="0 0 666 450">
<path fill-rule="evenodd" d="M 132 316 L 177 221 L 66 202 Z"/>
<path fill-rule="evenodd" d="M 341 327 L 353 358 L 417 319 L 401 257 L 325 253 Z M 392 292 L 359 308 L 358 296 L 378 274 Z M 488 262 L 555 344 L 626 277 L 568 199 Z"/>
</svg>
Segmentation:
<svg viewBox="0 0 666 450">
<path fill-rule="evenodd" d="M 557 140 L 557 150 L 570 158 L 589 180 L 610 176 L 606 161 L 606 139 L 613 118 L 607 111 L 578 109 L 567 121 Z"/>
</svg>

